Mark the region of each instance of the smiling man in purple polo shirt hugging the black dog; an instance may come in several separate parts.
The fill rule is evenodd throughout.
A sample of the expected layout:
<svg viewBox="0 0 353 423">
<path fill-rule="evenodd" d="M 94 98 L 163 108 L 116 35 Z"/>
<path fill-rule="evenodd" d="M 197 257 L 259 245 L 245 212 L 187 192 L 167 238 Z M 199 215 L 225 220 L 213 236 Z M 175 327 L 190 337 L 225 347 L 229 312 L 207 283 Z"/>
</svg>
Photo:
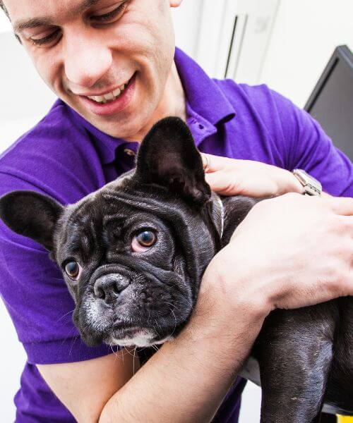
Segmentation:
<svg viewBox="0 0 353 423">
<path fill-rule="evenodd" d="M 305 168 L 331 194 L 352 196 L 349 160 L 308 115 L 267 87 L 210 80 L 174 54 L 169 7 L 180 3 L 4 0 L 60 99 L 1 157 L 0 195 L 32 189 L 76 202 L 131 168 L 151 125 L 174 115 L 201 152 Z M 211 185 L 226 194 L 301 191 L 273 166 L 205 161 Z M 249 182 L 253 174 L 260 185 Z M 352 214 L 353 200 L 331 197 L 285 195 L 256 206 L 208 266 L 186 329 L 138 372 L 132 355 L 80 341 L 47 252 L 1 224 L 1 295 L 28 354 L 17 421 L 237 422 L 237 372 L 266 315 L 353 294 Z"/>
</svg>

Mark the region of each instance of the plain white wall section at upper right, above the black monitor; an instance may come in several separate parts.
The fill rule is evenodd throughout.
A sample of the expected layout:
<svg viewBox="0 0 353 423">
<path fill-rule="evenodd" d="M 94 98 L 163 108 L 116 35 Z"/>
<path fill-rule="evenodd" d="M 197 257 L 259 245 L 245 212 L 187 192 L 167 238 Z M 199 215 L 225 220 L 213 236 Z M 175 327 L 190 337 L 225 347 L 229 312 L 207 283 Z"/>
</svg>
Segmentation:
<svg viewBox="0 0 353 423">
<path fill-rule="evenodd" d="M 304 106 L 340 44 L 353 49 L 352 0 L 281 0 L 259 82 Z"/>
</svg>

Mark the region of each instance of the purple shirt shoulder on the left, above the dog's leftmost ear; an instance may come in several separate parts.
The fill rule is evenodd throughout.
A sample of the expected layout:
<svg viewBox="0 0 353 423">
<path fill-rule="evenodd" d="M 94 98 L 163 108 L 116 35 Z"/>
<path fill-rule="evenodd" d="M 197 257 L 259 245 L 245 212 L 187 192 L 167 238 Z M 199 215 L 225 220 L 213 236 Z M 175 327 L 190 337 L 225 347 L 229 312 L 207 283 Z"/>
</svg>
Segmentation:
<svg viewBox="0 0 353 423">
<path fill-rule="evenodd" d="M 76 200 L 97 189 L 95 160 L 99 162 L 90 136 L 74 123 L 68 106 L 58 101 L 0 155 L 0 195 L 34 189 L 62 202 Z"/>
</svg>

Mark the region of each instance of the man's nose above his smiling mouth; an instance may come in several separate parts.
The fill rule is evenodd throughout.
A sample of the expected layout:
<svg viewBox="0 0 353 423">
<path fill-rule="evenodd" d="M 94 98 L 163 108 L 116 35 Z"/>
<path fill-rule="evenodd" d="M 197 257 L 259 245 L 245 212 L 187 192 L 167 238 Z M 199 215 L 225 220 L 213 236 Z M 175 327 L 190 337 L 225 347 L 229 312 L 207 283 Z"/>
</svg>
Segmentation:
<svg viewBox="0 0 353 423">
<path fill-rule="evenodd" d="M 66 77 L 80 87 L 92 87 L 112 66 L 112 51 L 90 32 L 67 35 L 64 46 Z"/>
</svg>

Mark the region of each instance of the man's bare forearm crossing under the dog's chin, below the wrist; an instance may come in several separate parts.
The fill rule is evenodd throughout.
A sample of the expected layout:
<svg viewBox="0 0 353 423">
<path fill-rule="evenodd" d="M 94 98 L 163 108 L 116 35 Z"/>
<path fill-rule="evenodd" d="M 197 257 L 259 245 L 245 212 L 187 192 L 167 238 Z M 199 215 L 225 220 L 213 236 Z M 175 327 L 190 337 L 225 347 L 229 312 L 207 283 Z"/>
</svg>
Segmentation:
<svg viewBox="0 0 353 423">
<path fill-rule="evenodd" d="M 239 308 L 236 324 L 225 317 L 205 328 L 207 320 L 196 314 L 164 344 L 108 401 L 100 422 L 209 422 L 249 355 L 263 317 L 249 306 Z"/>
</svg>

